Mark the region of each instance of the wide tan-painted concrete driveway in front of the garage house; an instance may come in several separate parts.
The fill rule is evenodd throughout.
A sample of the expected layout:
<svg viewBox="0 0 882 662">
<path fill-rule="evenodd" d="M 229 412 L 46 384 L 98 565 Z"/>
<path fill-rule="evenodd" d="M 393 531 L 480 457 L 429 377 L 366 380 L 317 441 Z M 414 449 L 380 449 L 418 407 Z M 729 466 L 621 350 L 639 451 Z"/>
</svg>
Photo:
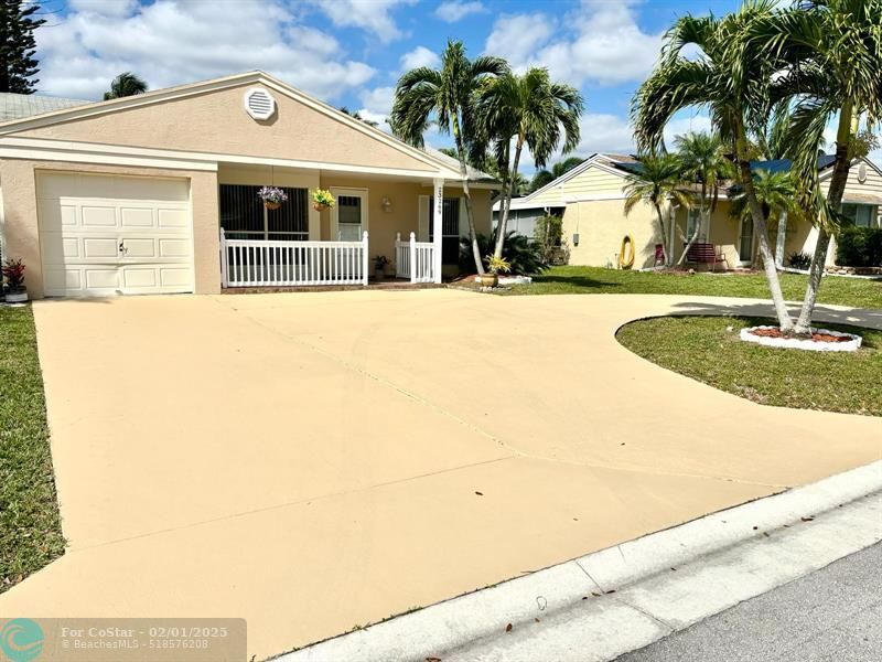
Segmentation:
<svg viewBox="0 0 882 662">
<path fill-rule="evenodd" d="M 755 405 L 613 338 L 697 309 L 757 310 L 454 290 L 37 302 L 69 548 L 0 612 L 244 617 L 265 658 L 882 457 L 878 418 Z"/>
</svg>

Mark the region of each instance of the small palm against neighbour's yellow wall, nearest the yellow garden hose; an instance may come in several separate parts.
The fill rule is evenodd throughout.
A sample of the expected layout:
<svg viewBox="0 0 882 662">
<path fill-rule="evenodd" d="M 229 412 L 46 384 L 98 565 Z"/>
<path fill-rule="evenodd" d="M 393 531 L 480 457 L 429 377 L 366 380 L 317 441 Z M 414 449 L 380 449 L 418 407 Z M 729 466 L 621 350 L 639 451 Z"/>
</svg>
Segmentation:
<svg viewBox="0 0 882 662">
<path fill-rule="evenodd" d="M 662 250 L 665 254 L 665 264 L 670 264 L 670 246 L 668 246 L 668 228 L 665 226 L 665 216 L 662 205 L 668 201 L 676 201 L 680 206 L 691 206 L 689 193 L 682 185 L 682 164 L 675 154 L 646 154 L 639 158 L 639 166 L 627 175 L 627 183 L 622 191 L 625 193 L 625 215 L 641 202 L 650 204 L 658 221 L 658 232 L 662 236 Z"/>
</svg>

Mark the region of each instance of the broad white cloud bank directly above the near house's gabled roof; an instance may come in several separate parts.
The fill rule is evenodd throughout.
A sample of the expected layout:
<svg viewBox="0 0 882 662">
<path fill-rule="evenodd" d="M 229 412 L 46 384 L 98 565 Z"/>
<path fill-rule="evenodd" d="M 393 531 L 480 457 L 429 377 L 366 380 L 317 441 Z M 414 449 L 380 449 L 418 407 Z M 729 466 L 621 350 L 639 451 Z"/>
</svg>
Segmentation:
<svg viewBox="0 0 882 662">
<path fill-rule="evenodd" d="M 80 11 L 36 32 L 43 93 L 99 98 L 125 71 L 155 89 L 260 68 L 333 99 L 375 74 L 276 2 L 238 0 L 218 12 L 214 3 L 157 0 L 128 13 L 96 13 L 96 0 L 77 1 Z"/>
</svg>

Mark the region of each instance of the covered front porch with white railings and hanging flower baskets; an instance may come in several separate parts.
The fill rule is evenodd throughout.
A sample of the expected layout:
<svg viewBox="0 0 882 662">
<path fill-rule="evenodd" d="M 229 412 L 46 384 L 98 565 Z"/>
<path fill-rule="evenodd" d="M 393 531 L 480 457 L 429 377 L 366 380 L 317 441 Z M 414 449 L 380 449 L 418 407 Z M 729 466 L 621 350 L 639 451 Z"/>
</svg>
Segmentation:
<svg viewBox="0 0 882 662">
<path fill-rule="evenodd" d="M 459 271 L 460 237 L 469 236 L 461 182 L 275 164 L 220 164 L 217 177 L 224 288 L 440 284 Z M 288 200 L 267 209 L 257 195 L 263 185 Z M 316 210 L 315 189 L 336 204 Z M 481 233 L 490 229 L 490 194 L 472 193 Z"/>
</svg>

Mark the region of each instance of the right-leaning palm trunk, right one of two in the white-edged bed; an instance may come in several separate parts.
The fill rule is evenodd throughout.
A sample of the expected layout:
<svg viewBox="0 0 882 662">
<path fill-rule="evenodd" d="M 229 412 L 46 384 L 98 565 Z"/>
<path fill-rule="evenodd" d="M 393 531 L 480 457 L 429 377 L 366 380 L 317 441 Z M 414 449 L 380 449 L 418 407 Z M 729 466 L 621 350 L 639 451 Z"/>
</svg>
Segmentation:
<svg viewBox="0 0 882 662">
<path fill-rule="evenodd" d="M 850 103 L 842 105 L 839 114 L 839 126 L 836 131 L 836 161 L 833 162 L 833 173 L 830 177 L 830 188 L 827 190 L 827 203 L 831 209 L 838 210 L 842 204 L 842 195 L 846 192 L 848 172 L 851 168 L 849 159 L 849 141 L 851 139 L 851 116 L 852 106 Z M 794 333 L 798 335 L 809 335 L 811 333 L 811 317 L 815 314 L 815 305 L 818 299 L 818 289 L 824 278 L 824 268 L 827 265 L 827 253 L 830 249 L 830 234 L 824 225 L 818 226 L 818 241 L 815 244 L 815 253 L 811 256 L 811 266 L 808 270 L 808 282 L 806 284 L 806 295 L 803 299 L 803 308 L 799 310 L 799 319 L 796 321 Z"/>
</svg>

